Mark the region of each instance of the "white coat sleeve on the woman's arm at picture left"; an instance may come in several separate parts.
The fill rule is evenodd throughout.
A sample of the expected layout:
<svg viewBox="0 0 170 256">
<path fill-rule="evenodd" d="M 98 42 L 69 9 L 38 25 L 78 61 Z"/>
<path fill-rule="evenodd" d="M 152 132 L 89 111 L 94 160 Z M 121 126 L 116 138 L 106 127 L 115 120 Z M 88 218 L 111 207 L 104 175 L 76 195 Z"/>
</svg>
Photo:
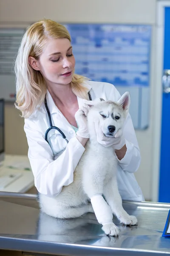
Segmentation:
<svg viewBox="0 0 170 256">
<path fill-rule="evenodd" d="M 28 141 L 28 158 L 37 190 L 44 195 L 58 195 L 63 186 L 73 182 L 74 170 L 85 148 L 76 137 L 71 138 L 65 151 L 56 159 L 38 125 L 25 119 L 24 130 Z"/>
</svg>

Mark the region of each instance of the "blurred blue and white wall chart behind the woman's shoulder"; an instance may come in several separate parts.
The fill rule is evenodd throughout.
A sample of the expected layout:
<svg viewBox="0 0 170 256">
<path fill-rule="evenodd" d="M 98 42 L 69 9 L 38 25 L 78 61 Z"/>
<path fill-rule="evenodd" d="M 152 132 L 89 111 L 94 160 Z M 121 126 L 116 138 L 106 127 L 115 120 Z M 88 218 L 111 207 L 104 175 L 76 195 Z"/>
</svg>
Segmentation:
<svg viewBox="0 0 170 256">
<path fill-rule="evenodd" d="M 151 26 L 64 24 L 71 34 L 75 72 L 130 92 L 136 129 L 149 126 Z"/>
</svg>

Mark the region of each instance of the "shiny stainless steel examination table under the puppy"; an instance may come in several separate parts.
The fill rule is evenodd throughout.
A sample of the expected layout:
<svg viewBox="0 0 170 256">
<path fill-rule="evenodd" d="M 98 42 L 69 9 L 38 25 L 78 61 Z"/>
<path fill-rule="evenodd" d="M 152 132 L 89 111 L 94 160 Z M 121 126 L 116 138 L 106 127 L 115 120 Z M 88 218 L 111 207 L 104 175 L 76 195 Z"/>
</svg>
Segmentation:
<svg viewBox="0 0 170 256">
<path fill-rule="evenodd" d="M 170 238 L 162 237 L 170 204 L 124 201 L 138 226 L 106 236 L 93 213 L 82 218 L 56 219 L 40 212 L 36 195 L 0 192 L 0 249 L 41 255 L 167 255 Z"/>
</svg>

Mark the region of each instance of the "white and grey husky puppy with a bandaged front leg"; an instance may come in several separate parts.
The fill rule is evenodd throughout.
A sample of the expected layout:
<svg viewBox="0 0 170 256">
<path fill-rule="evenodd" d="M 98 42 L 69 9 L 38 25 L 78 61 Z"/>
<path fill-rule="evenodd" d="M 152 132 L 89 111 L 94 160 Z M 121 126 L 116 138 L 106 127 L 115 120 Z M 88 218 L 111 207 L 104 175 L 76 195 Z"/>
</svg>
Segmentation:
<svg viewBox="0 0 170 256">
<path fill-rule="evenodd" d="M 113 214 L 126 225 L 136 225 L 137 219 L 128 215 L 122 207 L 116 180 L 115 151 L 113 146 L 105 147 L 98 143 L 94 121 L 98 120 L 106 137 L 121 133 L 129 112 L 130 94 L 124 93 L 118 102 L 102 99 L 86 101 L 86 106 L 82 108 L 82 113 L 86 112 L 87 115 L 90 139 L 74 171 L 74 181 L 64 186 L 57 196 L 40 194 L 40 208 L 42 212 L 56 218 L 77 218 L 87 212 L 94 212 L 105 234 L 118 236 L 119 228 L 112 221 Z M 81 125 L 80 118 L 77 122 Z"/>
</svg>

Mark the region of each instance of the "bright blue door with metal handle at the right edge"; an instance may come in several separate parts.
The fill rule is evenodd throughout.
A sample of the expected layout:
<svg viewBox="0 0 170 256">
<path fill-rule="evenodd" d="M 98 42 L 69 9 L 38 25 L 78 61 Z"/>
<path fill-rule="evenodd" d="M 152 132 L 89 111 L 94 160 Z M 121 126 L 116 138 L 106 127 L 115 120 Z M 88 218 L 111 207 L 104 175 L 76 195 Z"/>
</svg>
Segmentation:
<svg viewBox="0 0 170 256">
<path fill-rule="evenodd" d="M 170 203 L 170 7 L 164 8 L 161 156 L 159 202 Z"/>
</svg>

